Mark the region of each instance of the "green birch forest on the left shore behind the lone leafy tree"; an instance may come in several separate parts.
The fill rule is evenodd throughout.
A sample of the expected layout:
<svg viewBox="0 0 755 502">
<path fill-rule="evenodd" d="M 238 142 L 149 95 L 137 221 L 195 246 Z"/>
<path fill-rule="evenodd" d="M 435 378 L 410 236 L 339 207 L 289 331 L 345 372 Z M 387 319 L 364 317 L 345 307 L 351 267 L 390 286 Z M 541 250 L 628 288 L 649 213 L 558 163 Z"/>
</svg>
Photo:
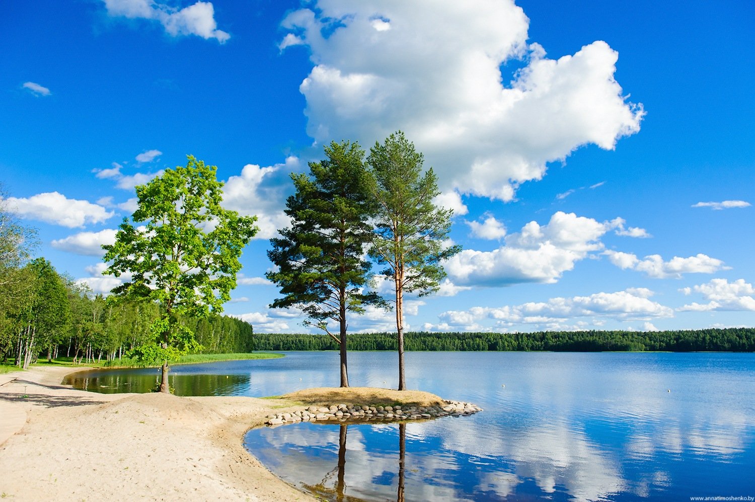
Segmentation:
<svg viewBox="0 0 755 502">
<path fill-rule="evenodd" d="M 3 198 L 4 199 L 4 198 Z M 119 359 L 149 342 L 159 303 L 100 294 L 60 274 L 45 258 L 30 259 L 35 232 L 0 199 L 0 358 L 28 368 L 39 358 L 74 362 Z M 178 316 L 202 352 L 251 352 L 252 327 L 226 316 Z"/>
</svg>

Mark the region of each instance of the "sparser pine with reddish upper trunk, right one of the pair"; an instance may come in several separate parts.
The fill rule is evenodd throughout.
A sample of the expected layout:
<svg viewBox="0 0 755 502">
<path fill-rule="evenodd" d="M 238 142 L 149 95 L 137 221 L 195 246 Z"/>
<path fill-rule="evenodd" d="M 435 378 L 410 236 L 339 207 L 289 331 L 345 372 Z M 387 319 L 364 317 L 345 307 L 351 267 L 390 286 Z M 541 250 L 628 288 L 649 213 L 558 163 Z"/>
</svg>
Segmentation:
<svg viewBox="0 0 755 502">
<path fill-rule="evenodd" d="M 439 208 L 433 168 L 422 172 L 424 158 L 402 131 L 383 144 L 375 143 L 367 158 L 376 181 L 372 197 L 377 201 L 375 233 L 370 255 L 386 266 L 384 276 L 396 291 L 396 334 L 399 345 L 399 390 L 404 376 L 404 293 L 424 296 L 439 288 L 445 277 L 442 262 L 461 251 L 446 245 L 451 229 L 451 209 Z"/>
</svg>

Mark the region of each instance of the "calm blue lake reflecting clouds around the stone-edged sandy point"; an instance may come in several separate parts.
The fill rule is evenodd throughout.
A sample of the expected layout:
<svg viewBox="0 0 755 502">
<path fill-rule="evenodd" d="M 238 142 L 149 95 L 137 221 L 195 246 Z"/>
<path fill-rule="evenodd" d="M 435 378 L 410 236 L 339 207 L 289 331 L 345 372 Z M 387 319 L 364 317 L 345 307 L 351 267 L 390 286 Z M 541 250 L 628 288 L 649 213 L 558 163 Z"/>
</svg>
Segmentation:
<svg viewBox="0 0 755 502">
<path fill-rule="evenodd" d="M 263 427 L 247 433 L 246 447 L 328 500 L 755 497 L 755 354 L 405 357 L 408 388 L 484 411 L 405 426 Z M 317 352 L 176 366 L 171 385 L 183 395 L 279 395 L 336 386 L 337 362 L 337 353 Z M 396 366 L 396 353 L 350 353 L 350 384 L 396 388 Z M 134 392 L 158 374 L 97 373 L 71 383 Z"/>
</svg>

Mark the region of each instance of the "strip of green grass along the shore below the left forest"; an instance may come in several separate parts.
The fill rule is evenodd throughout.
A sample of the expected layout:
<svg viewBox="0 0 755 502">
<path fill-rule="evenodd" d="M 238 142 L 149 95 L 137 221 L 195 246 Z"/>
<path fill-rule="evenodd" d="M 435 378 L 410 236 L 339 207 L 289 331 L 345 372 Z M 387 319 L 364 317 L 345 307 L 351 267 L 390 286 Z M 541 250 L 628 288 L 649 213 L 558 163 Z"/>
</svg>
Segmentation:
<svg viewBox="0 0 755 502">
<path fill-rule="evenodd" d="M 233 353 L 233 354 L 186 354 L 181 356 L 175 362 L 171 362 L 171 365 L 195 365 L 202 362 L 218 362 L 218 361 L 242 361 L 244 359 L 275 359 L 283 357 L 283 354 L 269 353 L 269 352 L 254 352 L 254 353 Z M 121 359 L 112 359 L 110 361 L 97 360 L 87 362 L 86 359 L 80 364 L 77 362 L 73 364 L 72 357 L 59 357 L 48 361 L 44 356 L 37 362 L 32 363 L 33 367 L 69 367 L 69 368 L 157 368 L 159 365 L 150 365 L 144 362 L 137 361 L 136 359 L 128 359 L 126 357 Z M 0 374 L 9 373 L 11 371 L 18 371 L 20 368 L 9 359 L 5 362 L 0 362 Z"/>
</svg>

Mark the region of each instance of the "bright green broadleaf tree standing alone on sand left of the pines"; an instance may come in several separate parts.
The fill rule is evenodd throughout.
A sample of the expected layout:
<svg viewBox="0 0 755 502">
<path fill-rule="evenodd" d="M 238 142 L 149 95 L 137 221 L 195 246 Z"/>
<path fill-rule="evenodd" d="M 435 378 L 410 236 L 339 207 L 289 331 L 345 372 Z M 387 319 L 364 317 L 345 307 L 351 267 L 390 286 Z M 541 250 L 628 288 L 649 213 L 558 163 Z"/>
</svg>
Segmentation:
<svg viewBox="0 0 755 502">
<path fill-rule="evenodd" d="M 186 167 L 167 169 L 136 187 L 138 208 L 119 226 L 116 242 L 103 245 L 104 273 L 124 276 L 114 297 L 159 303 L 162 316 L 151 327 L 154 343 L 134 355 L 162 362 L 160 391 L 169 393 L 168 362 L 198 350 L 178 316 L 222 312 L 236 288 L 242 249 L 257 233 L 256 217 L 223 208 L 217 167 L 187 156 Z M 141 224 L 137 226 L 137 224 Z"/>
</svg>

